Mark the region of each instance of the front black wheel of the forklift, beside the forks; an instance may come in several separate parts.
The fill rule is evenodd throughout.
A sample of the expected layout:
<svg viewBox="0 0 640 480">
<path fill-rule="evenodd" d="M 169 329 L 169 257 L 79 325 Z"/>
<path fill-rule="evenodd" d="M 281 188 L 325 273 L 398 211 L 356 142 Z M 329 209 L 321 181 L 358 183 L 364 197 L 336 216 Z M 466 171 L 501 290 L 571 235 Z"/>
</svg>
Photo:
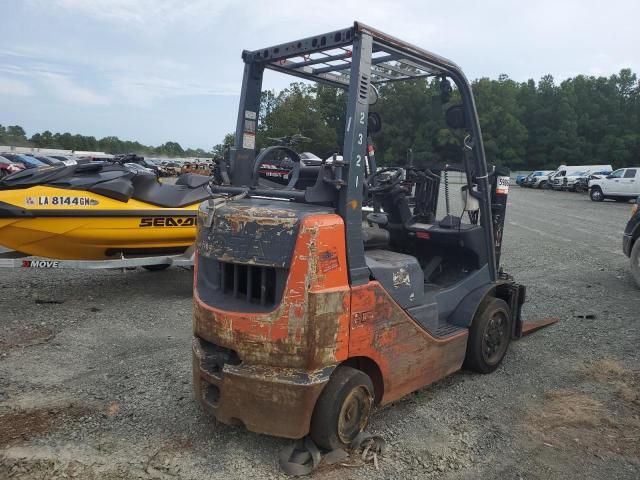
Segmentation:
<svg viewBox="0 0 640 480">
<path fill-rule="evenodd" d="M 494 297 L 485 299 L 469 329 L 464 367 L 479 373 L 498 368 L 509 349 L 512 322 L 507 302 Z"/>
</svg>

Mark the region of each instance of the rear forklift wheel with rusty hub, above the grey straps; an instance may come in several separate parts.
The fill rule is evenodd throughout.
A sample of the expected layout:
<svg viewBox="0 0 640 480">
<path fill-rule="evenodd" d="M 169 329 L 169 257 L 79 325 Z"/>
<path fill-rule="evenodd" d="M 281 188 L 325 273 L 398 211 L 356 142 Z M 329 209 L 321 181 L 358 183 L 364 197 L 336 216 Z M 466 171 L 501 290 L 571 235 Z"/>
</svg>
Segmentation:
<svg viewBox="0 0 640 480">
<path fill-rule="evenodd" d="M 345 365 L 336 368 L 311 416 L 313 441 L 327 450 L 349 446 L 367 427 L 373 398 L 368 375 Z"/>
</svg>

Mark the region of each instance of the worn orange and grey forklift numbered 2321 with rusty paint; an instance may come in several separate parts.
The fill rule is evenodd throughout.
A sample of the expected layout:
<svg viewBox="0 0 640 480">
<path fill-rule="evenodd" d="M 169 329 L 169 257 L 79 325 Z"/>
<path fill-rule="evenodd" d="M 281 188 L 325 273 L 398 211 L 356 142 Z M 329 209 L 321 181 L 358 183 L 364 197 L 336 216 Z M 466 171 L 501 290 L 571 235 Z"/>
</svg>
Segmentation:
<svg viewBox="0 0 640 480">
<path fill-rule="evenodd" d="M 342 448 L 376 405 L 463 366 L 492 372 L 526 330 L 525 287 L 500 268 L 509 172 L 487 168 L 471 87 L 443 57 L 355 22 L 242 58 L 226 180 L 198 212 L 195 396 L 223 423 Z M 256 151 L 265 69 L 346 91 L 341 156 Z M 378 168 L 378 87 L 428 77 L 459 93 L 443 115 L 464 138 L 460 162 Z M 283 156 L 285 184 L 265 185 L 260 172 Z M 464 211 L 437 218 L 451 170 Z"/>
</svg>

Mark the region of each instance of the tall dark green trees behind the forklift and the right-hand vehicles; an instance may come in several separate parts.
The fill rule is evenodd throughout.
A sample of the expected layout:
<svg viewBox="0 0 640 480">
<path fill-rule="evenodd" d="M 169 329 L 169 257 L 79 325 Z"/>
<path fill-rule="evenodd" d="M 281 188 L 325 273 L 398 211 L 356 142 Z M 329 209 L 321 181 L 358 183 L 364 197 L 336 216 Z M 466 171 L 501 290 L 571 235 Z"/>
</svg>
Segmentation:
<svg viewBox="0 0 640 480">
<path fill-rule="evenodd" d="M 578 75 L 556 83 L 516 82 L 507 75 L 472 82 L 487 161 L 512 170 L 556 168 L 560 164 L 640 163 L 640 83 L 630 69 L 609 77 Z M 444 110 L 458 100 L 440 101 L 440 79 L 392 82 L 379 89 L 371 108 L 382 117 L 374 137 L 378 162 L 404 165 L 459 162 L 461 138 L 444 123 Z M 258 147 L 300 133 L 298 146 L 321 157 L 341 151 L 345 94 L 322 85 L 293 83 L 263 93 Z M 224 144 L 232 143 L 227 135 Z"/>
</svg>

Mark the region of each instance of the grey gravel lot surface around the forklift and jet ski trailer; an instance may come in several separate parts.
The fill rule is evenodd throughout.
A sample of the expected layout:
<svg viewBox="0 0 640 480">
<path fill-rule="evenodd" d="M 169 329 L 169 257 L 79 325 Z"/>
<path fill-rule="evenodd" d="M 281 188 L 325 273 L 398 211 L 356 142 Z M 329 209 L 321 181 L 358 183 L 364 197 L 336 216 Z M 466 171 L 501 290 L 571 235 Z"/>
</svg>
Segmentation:
<svg viewBox="0 0 640 480">
<path fill-rule="evenodd" d="M 488 376 L 387 406 L 373 465 L 313 478 L 640 476 L 640 291 L 630 205 L 511 188 L 502 264 L 525 319 Z M 216 424 L 191 394 L 191 272 L 0 272 L 0 478 L 280 478 L 289 444 Z M 350 461 L 352 464 L 357 462 Z"/>
</svg>

